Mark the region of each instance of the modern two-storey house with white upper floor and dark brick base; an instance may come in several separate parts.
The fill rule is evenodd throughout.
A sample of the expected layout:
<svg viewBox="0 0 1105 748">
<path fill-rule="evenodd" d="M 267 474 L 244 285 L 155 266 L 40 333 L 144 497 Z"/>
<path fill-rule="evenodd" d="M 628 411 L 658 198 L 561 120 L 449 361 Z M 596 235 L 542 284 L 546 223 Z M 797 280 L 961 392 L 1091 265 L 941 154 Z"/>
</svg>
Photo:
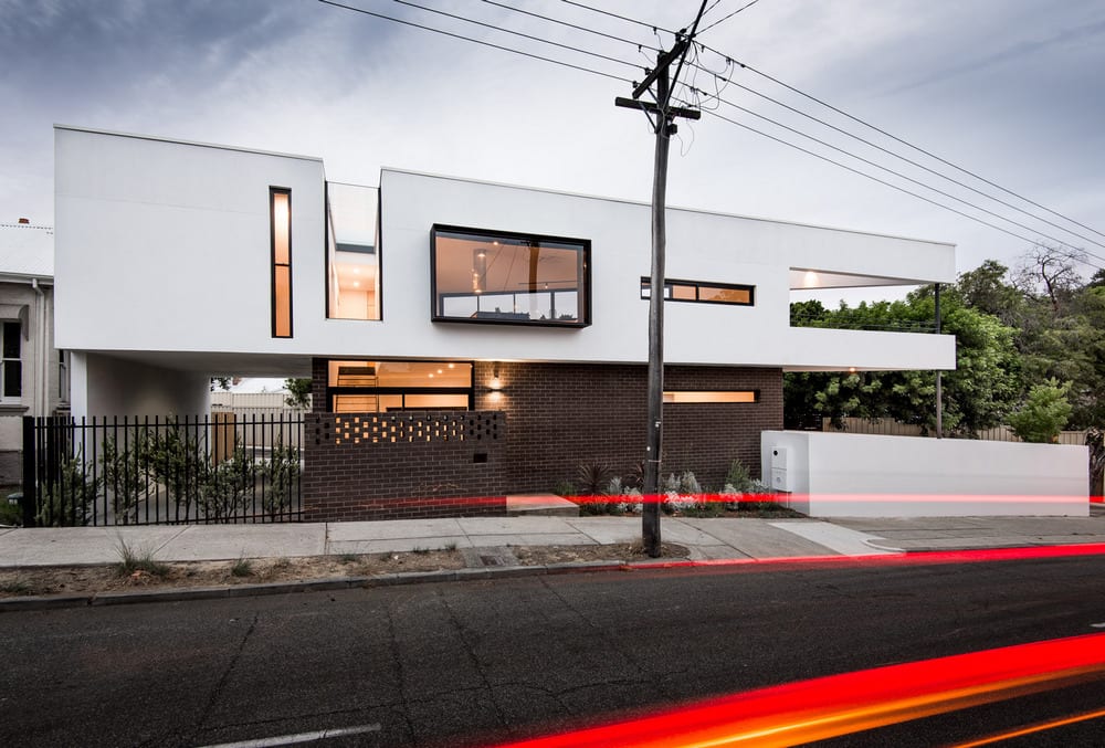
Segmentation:
<svg viewBox="0 0 1105 748">
<path fill-rule="evenodd" d="M 307 519 L 499 512 L 581 464 L 640 463 L 648 204 L 400 169 L 335 183 L 318 158 L 77 127 L 55 140 L 74 415 L 203 413 L 211 376 L 311 377 Z M 951 336 L 792 327 L 793 291 L 954 280 L 941 242 L 670 209 L 663 470 L 758 472 L 785 370 L 955 367 Z"/>
</svg>

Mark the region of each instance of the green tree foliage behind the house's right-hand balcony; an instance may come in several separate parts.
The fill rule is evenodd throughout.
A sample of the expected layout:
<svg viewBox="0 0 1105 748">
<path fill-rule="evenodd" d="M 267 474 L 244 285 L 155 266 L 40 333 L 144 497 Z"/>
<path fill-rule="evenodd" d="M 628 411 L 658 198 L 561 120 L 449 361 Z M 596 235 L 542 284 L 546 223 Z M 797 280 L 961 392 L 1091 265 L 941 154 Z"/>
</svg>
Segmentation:
<svg viewBox="0 0 1105 748">
<path fill-rule="evenodd" d="M 1105 424 L 1105 271 L 1083 281 L 1078 262 L 1041 245 L 1015 272 L 989 260 L 941 289 L 941 331 L 956 336 L 956 370 L 943 375 L 945 432 L 974 436 L 1007 423 L 1052 380 L 1066 388 L 1069 428 Z M 791 305 L 791 324 L 807 327 L 929 331 L 935 319 L 933 286 L 897 302 Z M 785 396 L 788 428 L 857 417 L 935 429 L 933 371 L 793 372 Z"/>
</svg>

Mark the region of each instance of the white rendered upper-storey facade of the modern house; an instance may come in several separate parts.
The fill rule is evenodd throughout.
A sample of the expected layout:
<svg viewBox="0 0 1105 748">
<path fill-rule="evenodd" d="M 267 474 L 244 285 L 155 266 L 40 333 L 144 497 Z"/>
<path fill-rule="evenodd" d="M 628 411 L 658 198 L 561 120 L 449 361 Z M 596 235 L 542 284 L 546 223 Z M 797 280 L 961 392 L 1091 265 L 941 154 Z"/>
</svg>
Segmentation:
<svg viewBox="0 0 1105 748">
<path fill-rule="evenodd" d="M 319 159 L 71 127 L 55 138 L 56 344 L 73 351 L 74 415 L 203 412 L 211 376 L 309 376 L 318 358 L 645 361 L 646 204 L 386 169 L 381 318 L 333 319 Z M 272 327 L 273 188 L 291 200 L 290 337 Z M 589 241 L 590 324 L 433 322 L 434 225 Z M 803 283 L 950 283 L 949 244 L 671 209 L 667 276 L 755 287 L 746 306 L 666 304 L 669 364 L 955 367 L 951 336 L 789 324 Z"/>
</svg>

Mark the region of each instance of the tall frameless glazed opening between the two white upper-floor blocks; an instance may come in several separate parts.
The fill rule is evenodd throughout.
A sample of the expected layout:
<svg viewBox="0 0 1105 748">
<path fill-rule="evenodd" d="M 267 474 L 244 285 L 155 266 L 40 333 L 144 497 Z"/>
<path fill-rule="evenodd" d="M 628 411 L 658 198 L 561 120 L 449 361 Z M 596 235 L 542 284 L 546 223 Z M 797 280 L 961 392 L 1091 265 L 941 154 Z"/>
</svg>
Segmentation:
<svg viewBox="0 0 1105 748">
<path fill-rule="evenodd" d="M 326 183 L 326 316 L 380 318 L 379 190 Z"/>
</svg>

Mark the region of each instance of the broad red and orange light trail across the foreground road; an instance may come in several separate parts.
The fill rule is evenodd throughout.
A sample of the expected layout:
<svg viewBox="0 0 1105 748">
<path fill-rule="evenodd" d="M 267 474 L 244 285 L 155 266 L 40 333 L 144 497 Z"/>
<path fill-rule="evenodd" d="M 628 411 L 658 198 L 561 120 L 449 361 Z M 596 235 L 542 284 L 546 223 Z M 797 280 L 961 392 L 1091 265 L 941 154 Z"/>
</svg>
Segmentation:
<svg viewBox="0 0 1105 748">
<path fill-rule="evenodd" d="M 782 747 L 1105 677 L 1105 634 L 789 683 L 503 748 Z"/>
</svg>

